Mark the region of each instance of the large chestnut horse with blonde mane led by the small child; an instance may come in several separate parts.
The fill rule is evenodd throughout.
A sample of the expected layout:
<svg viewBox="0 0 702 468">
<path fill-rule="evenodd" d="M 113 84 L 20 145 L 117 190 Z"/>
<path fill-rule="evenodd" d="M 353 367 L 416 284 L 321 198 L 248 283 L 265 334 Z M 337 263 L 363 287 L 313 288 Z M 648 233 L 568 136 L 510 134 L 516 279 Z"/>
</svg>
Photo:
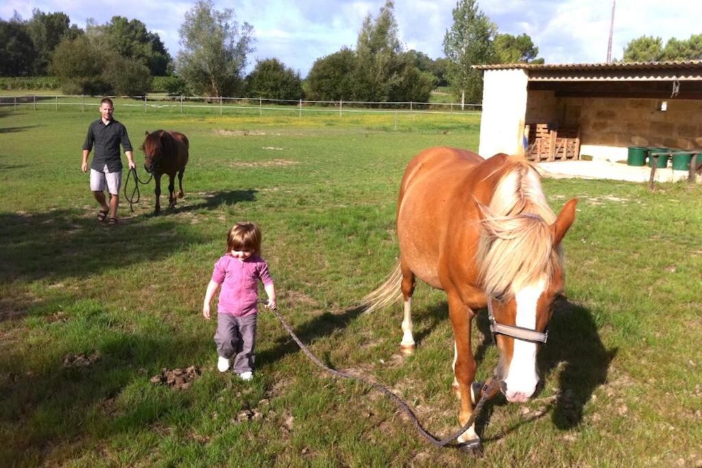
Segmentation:
<svg viewBox="0 0 702 468">
<path fill-rule="evenodd" d="M 567 202 L 556 217 L 536 169 L 519 156 L 482 159 L 463 149 L 437 147 L 407 166 L 397 203 L 399 264 L 366 301 L 369 310 L 378 309 L 399 300 L 402 292 L 400 346 L 411 354 L 415 278 L 444 290 L 461 425 L 468 422 L 481 391 L 473 382 L 477 364 L 470 344 L 479 309 L 489 309 L 500 354 L 494 378 L 502 392 L 517 402 L 534 394 L 536 352 L 546 341 L 553 302 L 564 285 L 560 242 L 574 221 L 576 203 Z M 458 441 L 479 448 L 475 424 Z"/>
</svg>

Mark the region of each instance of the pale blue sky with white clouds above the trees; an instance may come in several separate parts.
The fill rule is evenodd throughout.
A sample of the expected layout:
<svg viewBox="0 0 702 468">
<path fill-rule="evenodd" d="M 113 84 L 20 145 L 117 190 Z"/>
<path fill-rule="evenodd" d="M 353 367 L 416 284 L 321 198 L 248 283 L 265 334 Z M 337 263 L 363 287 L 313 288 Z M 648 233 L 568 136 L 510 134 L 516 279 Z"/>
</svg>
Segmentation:
<svg viewBox="0 0 702 468">
<path fill-rule="evenodd" d="M 178 0 L 3 0 L 0 18 L 15 11 L 28 20 L 32 10 L 61 11 L 82 29 L 93 18 L 102 25 L 114 15 L 145 23 L 156 32 L 173 58 L 180 51 L 178 29 L 194 1 Z M 239 22 L 253 26 L 256 60 L 278 58 L 304 77 L 314 60 L 343 46 L 355 48 L 363 20 L 376 18 L 385 0 L 215 0 L 215 8 L 233 8 Z M 444 56 L 446 29 L 453 24 L 456 0 L 395 0 L 395 19 L 405 49 L 431 58 Z M 611 0 L 483 0 L 479 8 L 498 32 L 526 33 L 546 63 L 604 62 L 611 19 Z M 702 1 L 618 0 L 614 14 L 612 57 L 621 58 L 631 39 L 643 35 L 689 39 L 702 33 Z"/>
</svg>

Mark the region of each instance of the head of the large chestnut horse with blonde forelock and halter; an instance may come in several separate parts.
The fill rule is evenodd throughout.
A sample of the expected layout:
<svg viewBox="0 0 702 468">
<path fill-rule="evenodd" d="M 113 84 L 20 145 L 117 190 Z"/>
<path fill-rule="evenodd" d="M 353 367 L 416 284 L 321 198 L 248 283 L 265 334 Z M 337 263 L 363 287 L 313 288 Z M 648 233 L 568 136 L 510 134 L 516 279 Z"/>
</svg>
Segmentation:
<svg viewBox="0 0 702 468">
<path fill-rule="evenodd" d="M 574 221 L 576 203 L 566 203 L 552 223 L 544 220 L 552 212 L 510 218 L 483 212 L 482 278 L 500 352 L 497 378 L 508 401 L 527 401 L 536 391 L 536 352 L 546 342 L 553 305 L 563 291 L 560 242 Z"/>
</svg>

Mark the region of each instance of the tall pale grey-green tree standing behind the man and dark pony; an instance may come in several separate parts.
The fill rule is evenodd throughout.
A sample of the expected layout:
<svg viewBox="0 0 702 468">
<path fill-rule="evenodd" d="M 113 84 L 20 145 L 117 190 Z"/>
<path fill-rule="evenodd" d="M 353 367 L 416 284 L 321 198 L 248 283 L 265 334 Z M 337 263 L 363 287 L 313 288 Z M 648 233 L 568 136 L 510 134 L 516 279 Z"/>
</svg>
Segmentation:
<svg viewBox="0 0 702 468">
<path fill-rule="evenodd" d="M 211 0 L 199 0 L 185 13 L 176 71 L 197 93 L 233 95 L 241 88 L 253 27 L 235 18 L 233 9 L 216 11 Z"/>
</svg>

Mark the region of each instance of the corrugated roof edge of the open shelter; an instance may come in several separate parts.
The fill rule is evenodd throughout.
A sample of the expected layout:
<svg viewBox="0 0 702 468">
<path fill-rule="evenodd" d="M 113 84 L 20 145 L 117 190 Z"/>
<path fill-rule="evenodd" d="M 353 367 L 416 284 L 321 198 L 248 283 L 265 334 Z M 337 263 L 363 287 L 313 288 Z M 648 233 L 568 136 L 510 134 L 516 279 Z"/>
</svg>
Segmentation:
<svg viewBox="0 0 702 468">
<path fill-rule="evenodd" d="M 702 60 L 670 60 L 668 62 L 600 62 L 600 63 L 503 63 L 496 65 L 473 65 L 479 70 L 498 69 L 527 69 L 527 70 L 564 70 L 564 71 L 597 71 L 597 70 L 655 70 L 655 69 L 702 69 Z"/>
</svg>

